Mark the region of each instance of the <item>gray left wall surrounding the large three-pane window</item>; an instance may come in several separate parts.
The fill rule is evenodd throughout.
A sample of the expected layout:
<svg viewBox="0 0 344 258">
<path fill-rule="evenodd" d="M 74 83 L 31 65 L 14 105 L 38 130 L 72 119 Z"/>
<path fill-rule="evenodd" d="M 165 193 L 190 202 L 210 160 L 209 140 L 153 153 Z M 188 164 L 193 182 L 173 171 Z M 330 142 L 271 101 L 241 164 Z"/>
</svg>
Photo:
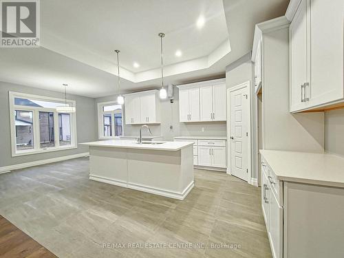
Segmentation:
<svg viewBox="0 0 344 258">
<path fill-rule="evenodd" d="M 40 154 L 23 155 L 19 157 L 11 156 L 11 136 L 10 136 L 10 109 L 8 103 L 8 92 L 21 92 L 26 94 L 36 94 L 41 96 L 50 96 L 55 98 L 64 98 L 61 92 L 52 92 L 46 89 L 37 89 L 23 85 L 0 82 L 0 166 L 10 166 L 36 160 L 45 160 L 65 155 L 87 152 L 88 148 L 78 145 L 77 149 L 65 151 L 52 151 Z M 76 100 L 76 129 L 78 142 L 89 142 L 98 137 L 98 127 L 95 112 L 94 98 L 83 96 L 67 95 L 68 99 Z"/>
</svg>

